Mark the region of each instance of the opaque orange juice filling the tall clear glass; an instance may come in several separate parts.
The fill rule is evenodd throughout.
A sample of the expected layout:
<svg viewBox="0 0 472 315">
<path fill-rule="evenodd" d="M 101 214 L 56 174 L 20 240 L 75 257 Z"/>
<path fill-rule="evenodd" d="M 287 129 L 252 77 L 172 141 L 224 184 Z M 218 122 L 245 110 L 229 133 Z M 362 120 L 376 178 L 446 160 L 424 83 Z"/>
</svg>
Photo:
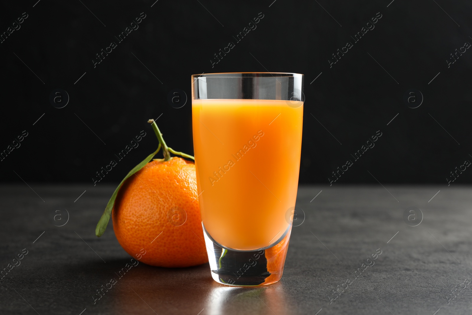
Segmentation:
<svg viewBox="0 0 472 315">
<path fill-rule="evenodd" d="M 295 206 L 298 187 L 303 102 L 290 105 L 283 100 L 192 101 L 202 221 L 225 247 L 267 247 L 289 227 L 286 213 Z"/>
</svg>

